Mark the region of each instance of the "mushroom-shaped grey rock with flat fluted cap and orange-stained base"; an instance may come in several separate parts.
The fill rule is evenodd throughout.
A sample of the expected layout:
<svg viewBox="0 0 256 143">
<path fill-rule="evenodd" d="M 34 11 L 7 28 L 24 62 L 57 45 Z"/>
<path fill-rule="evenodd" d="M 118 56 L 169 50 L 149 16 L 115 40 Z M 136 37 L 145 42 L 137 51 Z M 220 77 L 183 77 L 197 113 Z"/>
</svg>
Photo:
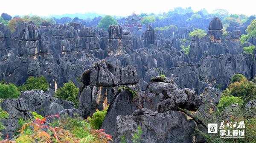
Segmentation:
<svg viewBox="0 0 256 143">
<path fill-rule="evenodd" d="M 86 118 L 95 109 L 103 109 L 112 101 L 118 87 L 140 91 L 139 78 L 131 67 L 117 67 L 106 60 L 95 62 L 81 76 L 83 86 L 79 93 L 79 114 Z"/>
</svg>

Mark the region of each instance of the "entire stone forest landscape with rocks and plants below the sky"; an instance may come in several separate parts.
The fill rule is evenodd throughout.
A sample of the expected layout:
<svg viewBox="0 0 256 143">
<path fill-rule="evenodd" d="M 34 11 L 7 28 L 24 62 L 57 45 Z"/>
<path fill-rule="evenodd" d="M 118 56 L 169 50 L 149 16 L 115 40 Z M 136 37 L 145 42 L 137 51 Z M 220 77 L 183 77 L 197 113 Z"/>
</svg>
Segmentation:
<svg viewBox="0 0 256 143">
<path fill-rule="evenodd" d="M 0 20 L 0 143 L 256 143 L 256 15 Z"/>
</svg>

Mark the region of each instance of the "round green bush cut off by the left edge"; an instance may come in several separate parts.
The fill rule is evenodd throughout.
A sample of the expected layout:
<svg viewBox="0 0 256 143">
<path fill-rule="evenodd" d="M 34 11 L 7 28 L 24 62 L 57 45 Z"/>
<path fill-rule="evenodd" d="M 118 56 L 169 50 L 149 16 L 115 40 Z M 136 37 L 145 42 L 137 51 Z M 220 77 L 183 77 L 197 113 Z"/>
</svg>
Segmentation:
<svg viewBox="0 0 256 143">
<path fill-rule="evenodd" d="M 18 88 L 10 84 L 0 84 L 0 98 L 15 98 L 17 99 L 20 95 Z"/>
</svg>

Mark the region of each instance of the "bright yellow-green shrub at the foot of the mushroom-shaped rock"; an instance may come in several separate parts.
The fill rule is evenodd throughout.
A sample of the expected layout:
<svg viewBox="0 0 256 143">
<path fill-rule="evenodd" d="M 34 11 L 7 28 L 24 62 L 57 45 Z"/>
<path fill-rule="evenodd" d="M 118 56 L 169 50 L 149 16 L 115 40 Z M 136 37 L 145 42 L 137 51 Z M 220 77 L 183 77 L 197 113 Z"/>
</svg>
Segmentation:
<svg viewBox="0 0 256 143">
<path fill-rule="evenodd" d="M 102 126 L 102 123 L 104 121 L 104 118 L 107 114 L 108 107 L 105 108 L 102 111 L 99 111 L 99 109 L 96 109 L 96 112 L 93 113 L 92 117 L 88 117 L 88 121 L 90 122 L 90 126 L 93 129 L 100 129 Z"/>
</svg>

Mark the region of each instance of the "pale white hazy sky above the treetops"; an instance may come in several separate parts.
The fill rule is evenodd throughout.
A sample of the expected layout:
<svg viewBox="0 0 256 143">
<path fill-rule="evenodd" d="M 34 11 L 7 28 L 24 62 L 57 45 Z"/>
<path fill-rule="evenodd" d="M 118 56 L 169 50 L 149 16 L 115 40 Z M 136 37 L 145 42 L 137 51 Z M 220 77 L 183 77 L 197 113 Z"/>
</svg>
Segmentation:
<svg viewBox="0 0 256 143">
<path fill-rule="evenodd" d="M 49 16 L 96 12 L 127 16 L 133 11 L 157 14 L 179 6 L 191 6 L 194 11 L 206 8 L 210 13 L 224 8 L 230 13 L 256 14 L 255 0 L 1 0 L 0 14 Z"/>
</svg>

